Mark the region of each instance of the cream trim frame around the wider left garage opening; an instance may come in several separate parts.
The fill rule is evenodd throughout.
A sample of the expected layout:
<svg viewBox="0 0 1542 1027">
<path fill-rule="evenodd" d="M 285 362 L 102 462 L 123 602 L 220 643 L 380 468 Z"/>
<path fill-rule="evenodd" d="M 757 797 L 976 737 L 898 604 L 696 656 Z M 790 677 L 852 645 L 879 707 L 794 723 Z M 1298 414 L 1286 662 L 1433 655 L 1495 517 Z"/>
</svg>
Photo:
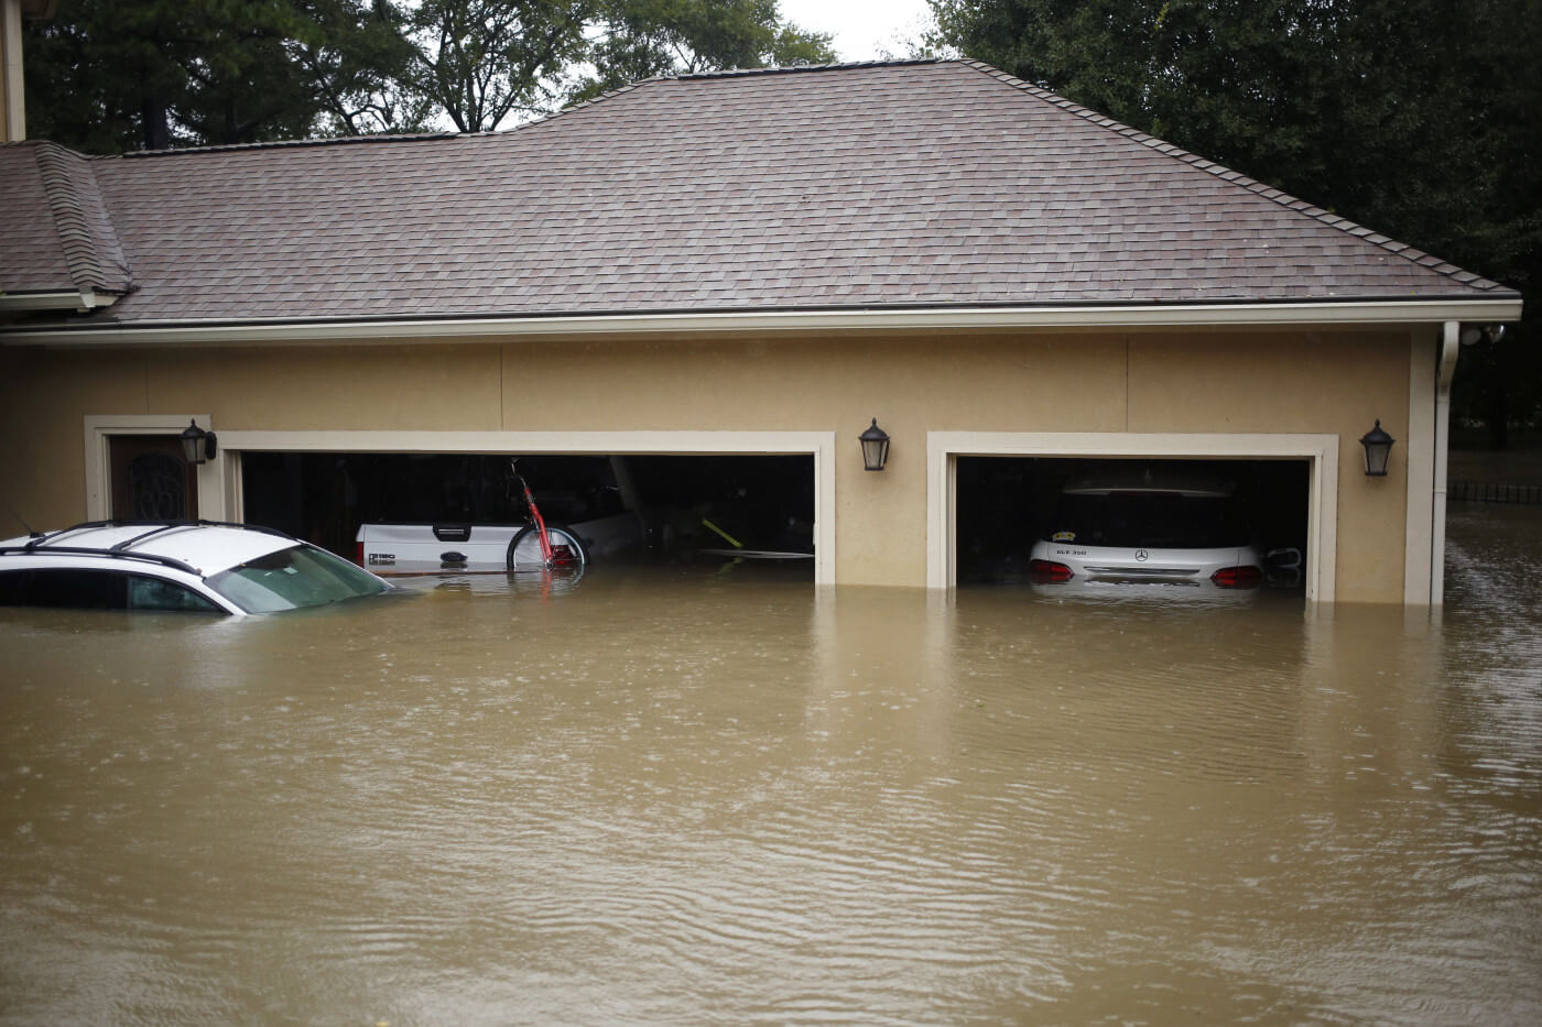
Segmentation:
<svg viewBox="0 0 1542 1027">
<path fill-rule="evenodd" d="M 834 432 L 219 432 L 210 520 L 242 520 L 241 453 L 527 453 L 563 456 L 813 456 L 814 583 L 836 580 Z M 200 478 L 200 487 L 205 480 Z"/>
</svg>

